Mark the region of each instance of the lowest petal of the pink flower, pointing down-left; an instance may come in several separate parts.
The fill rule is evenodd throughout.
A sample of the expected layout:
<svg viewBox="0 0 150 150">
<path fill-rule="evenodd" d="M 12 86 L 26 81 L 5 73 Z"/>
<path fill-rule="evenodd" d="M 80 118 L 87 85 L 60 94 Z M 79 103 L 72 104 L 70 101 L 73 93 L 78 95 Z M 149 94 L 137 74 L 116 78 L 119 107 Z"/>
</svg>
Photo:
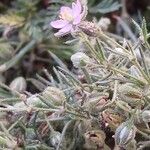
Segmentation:
<svg viewBox="0 0 150 150">
<path fill-rule="evenodd" d="M 54 35 L 57 36 L 57 37 L 60 37 L 60 36 L 68 34 L 72 29 L 73 29 L 72 24 L 68 24 L 65 27 L 63 27 L 62 29 L 60 29 Z"/>
</svg>

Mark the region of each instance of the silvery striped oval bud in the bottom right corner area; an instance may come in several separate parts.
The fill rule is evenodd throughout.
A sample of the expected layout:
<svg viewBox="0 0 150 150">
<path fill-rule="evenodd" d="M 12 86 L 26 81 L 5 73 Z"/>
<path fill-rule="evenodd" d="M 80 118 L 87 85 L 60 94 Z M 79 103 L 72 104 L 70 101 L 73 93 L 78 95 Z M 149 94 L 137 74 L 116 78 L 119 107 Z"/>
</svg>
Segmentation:
<svg viewBox="0 0 150 150">
<path fill-rule="evenodd" d="M 129 121 L 122 123 L 115 132 L 116 145 L 125 147 L 131 142 L 136 133 L 136 127 Z"/>
</svg>

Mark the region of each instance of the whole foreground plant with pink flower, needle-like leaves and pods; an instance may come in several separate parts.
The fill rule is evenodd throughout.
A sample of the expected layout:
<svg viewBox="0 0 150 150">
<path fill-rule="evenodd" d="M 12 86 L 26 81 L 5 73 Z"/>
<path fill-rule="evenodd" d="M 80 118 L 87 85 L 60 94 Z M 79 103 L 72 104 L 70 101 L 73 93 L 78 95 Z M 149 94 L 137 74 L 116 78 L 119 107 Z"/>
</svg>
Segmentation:
<svg viewBox="0 0 150 150">
<path fill-rule="evenodd" d="M 134 40 L 107 32 L 110 21 L 86 19 L 87 1 L 62 6 L 51 26 L 78 45 L 73 69 L 53 53 L 53 75 L 0 82 L 2 149 L 109 150 L 150 148 L 150 33 L 146 21 Z M 123 22 L 125 27 L 128 27 Z M 130 31 L 130 28 L 128 28 Z M 1 68 L 0 68 L 1 69 Z M 26 91 L 31 82 L 39 93 Z"/>
</svg>

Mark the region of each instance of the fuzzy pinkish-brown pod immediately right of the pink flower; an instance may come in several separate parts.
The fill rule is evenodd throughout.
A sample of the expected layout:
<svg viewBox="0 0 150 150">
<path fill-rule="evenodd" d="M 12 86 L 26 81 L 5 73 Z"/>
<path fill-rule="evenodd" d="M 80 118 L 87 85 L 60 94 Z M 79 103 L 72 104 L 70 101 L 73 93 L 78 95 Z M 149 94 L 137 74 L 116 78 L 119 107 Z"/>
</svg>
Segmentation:
<svg viewBox="0 0 150 150">
<path fill-rule="evenodd" d="M 99 36 L 99 33 L 101 32 L 101 29 L 99 26 L 94 24 L 93 22 L 88 21 L 82 21 L 78 26 L 85 34 L 89 36 L 97 37 Z"/>
</svg>

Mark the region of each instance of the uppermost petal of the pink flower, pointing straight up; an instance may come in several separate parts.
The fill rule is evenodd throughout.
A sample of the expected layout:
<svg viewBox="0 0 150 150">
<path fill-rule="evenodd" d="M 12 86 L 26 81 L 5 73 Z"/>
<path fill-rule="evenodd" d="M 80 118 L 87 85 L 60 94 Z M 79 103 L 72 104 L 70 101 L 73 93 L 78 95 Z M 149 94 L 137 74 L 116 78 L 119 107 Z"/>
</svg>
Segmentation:
<svg viewBox="0 0 150 150">
<path fill-rule="evenodd" d="M 81 7 L 80 0 L 77 0 L 76 3 L 72 3 L 72 11 L 73 11 L 74 17 L 77 17 L 81 13 L 81 10 L 82 10 L 82 7 Z"/>
</svg>

